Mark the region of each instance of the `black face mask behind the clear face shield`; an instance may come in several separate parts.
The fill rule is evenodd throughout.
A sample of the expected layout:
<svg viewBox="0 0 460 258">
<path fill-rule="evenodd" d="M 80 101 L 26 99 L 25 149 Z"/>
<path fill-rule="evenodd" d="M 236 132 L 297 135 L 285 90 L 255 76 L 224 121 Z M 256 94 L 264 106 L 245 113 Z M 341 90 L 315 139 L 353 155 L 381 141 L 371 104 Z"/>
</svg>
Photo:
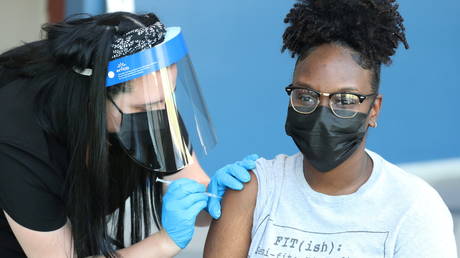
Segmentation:
<svg viewBox="0 0 460 258">
<path fill-rule="evenodd" d="M 157 113 L 155 116 L 158 117 L 162 124 L 157 125 L 154 129 L 158 132 L 155 135 L 161 135 L 162 143 L 162 155 L 163 160 L 166 161 L 164 169 L 165 171 L 158 171 L 161 167 L 158 162 L 158 155 L 155 152 L 154 144 L 150 134 L 149 123 L 148 123 L 148 112 Z M 173 149 L 173 141 L 171 136 L 171 130 L 169 128 L 166 110 L 155 110 L 148 112 L 139 112 L 126 114 L 122 113 L 122 121 L 120 131 L 116 136 L 121 147 L 126 153 L 138 164 L 144 168 L 152 170 L 154 172 L 163 172 L 163 174 L 172 174 L 182 169 L 180 161 L 176 161 L 176 155 Z M 185 125 L 179 116 L 179 126 L 182 132 L 182 136 L 185 138 L 184 141 L 188 143 L 189 150 L 191 151 L 191 144 L 189 143 L 187 130 Z"/>
</svg>

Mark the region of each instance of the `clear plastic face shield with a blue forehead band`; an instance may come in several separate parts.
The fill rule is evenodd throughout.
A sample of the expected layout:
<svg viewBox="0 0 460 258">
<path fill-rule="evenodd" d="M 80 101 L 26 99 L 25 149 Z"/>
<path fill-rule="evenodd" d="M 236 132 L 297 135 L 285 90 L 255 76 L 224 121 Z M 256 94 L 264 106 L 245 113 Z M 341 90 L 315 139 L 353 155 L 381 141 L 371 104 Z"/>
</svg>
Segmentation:
<svg viewBox="0 0 460 258">
<path fill-rule="evenodd" d="M 109 63 L 109 131 L 139 165 L 175 173 L 216 143 L 200 87 L 179 27 L 161 44 Z M 193 146 L 193 147 L 192 147 Z"/>
</svg>

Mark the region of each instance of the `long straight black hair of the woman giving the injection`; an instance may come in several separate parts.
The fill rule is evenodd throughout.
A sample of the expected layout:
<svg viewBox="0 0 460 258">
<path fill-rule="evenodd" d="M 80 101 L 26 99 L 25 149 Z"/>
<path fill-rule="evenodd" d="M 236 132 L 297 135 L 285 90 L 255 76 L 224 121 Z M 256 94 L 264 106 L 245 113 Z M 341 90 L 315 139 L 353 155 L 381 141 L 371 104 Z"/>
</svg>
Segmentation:
<svg viewBox="0 0 460 258">
<path fill-rule="evenodd" d="M 43 25 L 42 40 L 0 56 L 2 85 L 21 79 L 36 87 L 37 121 L 68 150 L 63 196 L 78 257 L 117 256 L 128 197 L 131 243 L 150 234 L 152 220 L 161 226 L 161 186 L 107 132 L 106 99 L 117 86 L 105 87 L 114 38 L 158 21 L 154 14 L 125 12 L 74 16 Z M 92 76 L 75 72 L 85 68 Z"/>
</svg>

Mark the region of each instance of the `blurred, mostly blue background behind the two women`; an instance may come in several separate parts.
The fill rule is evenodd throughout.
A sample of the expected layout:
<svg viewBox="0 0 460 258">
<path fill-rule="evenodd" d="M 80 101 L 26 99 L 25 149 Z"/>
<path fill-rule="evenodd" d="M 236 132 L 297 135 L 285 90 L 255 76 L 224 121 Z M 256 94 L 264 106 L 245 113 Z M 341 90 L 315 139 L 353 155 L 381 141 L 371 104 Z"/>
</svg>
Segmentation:
<svg viewBox="0 0 460 258">
<path fill-rule="evenodd" d="M 284 133 L 293 59 L 281 53 L 283 18 L 294 0 L 2 0 L 0 51 L 40 38 L 40 25 L 76 13 L 153 12 L 181 26 L 217 131 L 201 160 L 212 175 L 250 153 L 298 150 Z M 410 49 L 383 68 L 379 127 L 368 148 L 433 185 L 460 239 L 460 1 L 399 1 Z M 458 103 L 457 103 L 458 102 Z M 199 257 L 206 228 L 187 252 Z"/>
</svg>

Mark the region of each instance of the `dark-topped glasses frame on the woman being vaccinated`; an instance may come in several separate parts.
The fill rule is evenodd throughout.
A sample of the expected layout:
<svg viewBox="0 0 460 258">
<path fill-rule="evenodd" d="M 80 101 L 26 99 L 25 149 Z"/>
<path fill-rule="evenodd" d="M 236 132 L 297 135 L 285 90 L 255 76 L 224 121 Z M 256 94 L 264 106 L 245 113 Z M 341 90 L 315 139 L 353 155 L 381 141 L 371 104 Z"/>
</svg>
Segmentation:
<svg viewBox="0 0 460 258">
<path fill-rule="evenodd" d="M 337 94 L 351 94 L 351 95 L 355 95 L 355 96 L 358 97 L 358 99 L 359 99 L 359 104 L 362 104 L 362 103 L 364 102 L 364 100 L 366 100 L 367 98 L 377 95 L 377 93 L 372 93 L 372 94 L 367 94 L 367 95 L 365 95 L 365 94 L 359 94 L 359 93 L 356 93 L 356 92 L 334 92 L 334 93 L 319 92 L 319 91 L 314 90 L 314 89 L 311 89 L 311 88 L 295 86 L 295 85 L 293 85 L 292 83 L 289 84 L 289 85 L 288 85 L 286 88 L 284 88 L 284 89 L 286 90 L 286 93 L 287 93 L 288 96 L 289 96 L 289 102 L 290 102 L 290 104 L 291 104 L 291 106 L 292 106 L 292 108 L 294 109 L 295 112 L 300 113 L 300 114 L 304 114 L 304 115 L 309 115 L 309 114 L 315 112 L 316 108 L 318 108 L 318 106 L 319 106 L 319 104 L 320 104 L 320 99 L 319 99 L 319 98 L 320 98 L 321 96 L 325 96 L 325 97 L 328 97 L 328 98 L 329 98 L 329 107 L 331 108 L 332 113 L 334 113 L 335 116 L 337 116 L 337 117 L 339 117 L 339 118 L 344 118 L 344 119 L 353 118 L 353 117 L 356 116 L 356 114 L 358 114 L 358 112 L 355 112 L 355 114 L 353 114 L 353 116 L 351 116 L 351 117 L 344 117 L 344 116 L 338 115 L 338 114 L 335 112 L 335 110 L 334 110 L 334 108 L 332 107 L 332 104 L 331 104 L 331 98 L 332 98 L 334 95 L 337 95 Z M 302 111 L 297 110 L 297 109 L 294 107 L 294 105 L 293 105 L 293 103 L 292 103 L 292 95 L 291 95 L 291 93 L 292 93 L 292 91 L 295 90 L 295 89 L 309 90 L 309 91 L 312 91 L 312 92 L 314 92 L 314 93 L 316 93 L 316 94 L 318 95 L 318 102 L 316 103 L 316 105 L 315 105 L 315 107 L 313 108 L 312 111 L 310 111 L 310 112 L 302 112 Z M 372 105 L 371 105 L 371 106 L 372 106 Z"/>
</svg>

